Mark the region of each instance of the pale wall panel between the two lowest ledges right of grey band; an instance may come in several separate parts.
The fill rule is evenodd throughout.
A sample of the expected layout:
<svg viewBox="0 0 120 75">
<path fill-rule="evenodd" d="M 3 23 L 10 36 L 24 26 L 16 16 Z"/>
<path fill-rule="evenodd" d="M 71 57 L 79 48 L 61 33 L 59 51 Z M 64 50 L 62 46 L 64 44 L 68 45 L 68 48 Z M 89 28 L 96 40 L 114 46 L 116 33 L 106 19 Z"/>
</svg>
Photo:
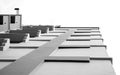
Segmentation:
<svg viewBox="0 0 120 75">
<path fill-rule="evenodd" d="M 108 57 L 105 47 L 56 49 L 50 56 Z"/>
</svg>

